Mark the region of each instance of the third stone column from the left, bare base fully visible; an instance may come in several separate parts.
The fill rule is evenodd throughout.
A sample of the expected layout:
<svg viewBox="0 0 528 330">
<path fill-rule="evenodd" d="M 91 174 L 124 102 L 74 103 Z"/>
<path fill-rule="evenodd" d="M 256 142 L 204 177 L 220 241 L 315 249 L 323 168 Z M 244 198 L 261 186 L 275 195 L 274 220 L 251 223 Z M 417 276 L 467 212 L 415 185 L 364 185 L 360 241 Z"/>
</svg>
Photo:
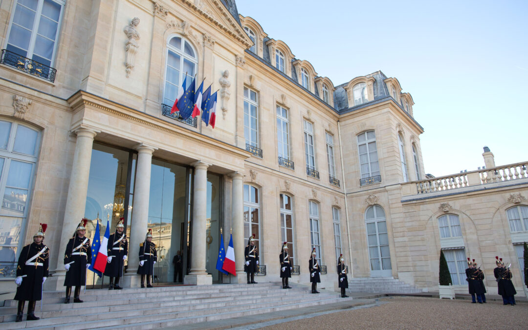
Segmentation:
<svg viewBox="0 0 528 330">
<path fill-rule="evenodd" d="M 211 285 L 213 278 L 205 270 L 205 231 L 207 217 L 207 168 L 209 164 L 197 161 L 194 166 L 194 201 L 192 221 L 191 273 L 185 275 L 184 284 Z"/>
</svg>

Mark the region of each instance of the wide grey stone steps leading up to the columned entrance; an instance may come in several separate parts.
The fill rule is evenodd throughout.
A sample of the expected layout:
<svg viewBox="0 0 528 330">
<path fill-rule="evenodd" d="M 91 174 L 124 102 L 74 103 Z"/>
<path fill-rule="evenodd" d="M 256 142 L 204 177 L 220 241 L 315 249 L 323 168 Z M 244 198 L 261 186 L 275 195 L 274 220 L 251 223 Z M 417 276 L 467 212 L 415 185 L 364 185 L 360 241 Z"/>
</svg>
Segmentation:
<svg viewBox="0 0 528 330">
<path fill-rule="evenodd" d="M 290 284 L 291 285 L 291 284 Z M 249 316 L 278 310 L 333 304 L 352 298 L 337 293 L 314 295 L 306 286 L 284 290 L 278 283 L 223 284 L 130 288 L 119 291 L 87 290 L 82 304 L 63 304 L 63 291 L 45 291 L 43 308 L 37 304 L 37 321 L 15 323 L 16 300 L 0 307 L 4 329 L 153 329 Z M 73 301 L 73 297 L 71 299 Z M 27 306 L 27 303 L 26 303 Z"/>
</svg>

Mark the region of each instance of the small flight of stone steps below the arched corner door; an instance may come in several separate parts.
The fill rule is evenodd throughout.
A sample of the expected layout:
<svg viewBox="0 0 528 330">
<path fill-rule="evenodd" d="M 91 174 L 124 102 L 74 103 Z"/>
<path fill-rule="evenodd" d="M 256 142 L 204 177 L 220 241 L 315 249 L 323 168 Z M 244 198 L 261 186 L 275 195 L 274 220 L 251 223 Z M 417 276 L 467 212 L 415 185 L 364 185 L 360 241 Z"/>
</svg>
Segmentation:
<svg viewBox="0 0 528 330">
<path fill-rule="evenodd" d="M 392 277 L 357 277 L 348 279 L 352 293 L 414 294 L 422 290 Z"/>
</svg>

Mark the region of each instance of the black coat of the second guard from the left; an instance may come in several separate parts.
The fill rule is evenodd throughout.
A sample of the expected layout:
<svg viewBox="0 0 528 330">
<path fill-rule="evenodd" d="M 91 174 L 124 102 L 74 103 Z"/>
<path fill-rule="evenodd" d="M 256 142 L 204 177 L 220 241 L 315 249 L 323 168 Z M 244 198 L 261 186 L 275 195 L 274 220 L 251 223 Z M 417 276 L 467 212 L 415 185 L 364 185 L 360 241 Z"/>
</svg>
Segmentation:
<svg viewBox="0 0 528 330">
<path fill-rule="evenodd" d="M 92 263 L 89 238 L 80 238 L 78 235 L 70 238 L 64 252 L 64 265 L 67 263 L 70 263 L 70 270 L 66 272 L 64 286 L 86 285 L 86 265 Z"/>
</svg>

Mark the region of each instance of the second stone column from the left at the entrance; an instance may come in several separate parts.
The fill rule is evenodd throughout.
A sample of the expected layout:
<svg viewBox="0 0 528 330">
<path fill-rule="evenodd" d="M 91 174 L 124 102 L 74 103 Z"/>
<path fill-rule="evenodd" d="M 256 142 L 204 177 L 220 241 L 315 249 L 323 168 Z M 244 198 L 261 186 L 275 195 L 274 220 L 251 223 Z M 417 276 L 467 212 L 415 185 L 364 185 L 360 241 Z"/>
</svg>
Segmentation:
<svg viewBox="0 0 528 330">
<path fill-rule="evenodd" d="M 150 168 L 152 153 L 155 148 L 145 144 L 136 146 L 137 166 L 134 187 L 134 203 L 128 241 L 128 268 L 123 277 L 125 287 L 139 286 L 139 276 L 136 276 L 139 266 L 139 244 L 145 240 L 148 223 L 148 202 L 150 197 Z"/>
</svg>

